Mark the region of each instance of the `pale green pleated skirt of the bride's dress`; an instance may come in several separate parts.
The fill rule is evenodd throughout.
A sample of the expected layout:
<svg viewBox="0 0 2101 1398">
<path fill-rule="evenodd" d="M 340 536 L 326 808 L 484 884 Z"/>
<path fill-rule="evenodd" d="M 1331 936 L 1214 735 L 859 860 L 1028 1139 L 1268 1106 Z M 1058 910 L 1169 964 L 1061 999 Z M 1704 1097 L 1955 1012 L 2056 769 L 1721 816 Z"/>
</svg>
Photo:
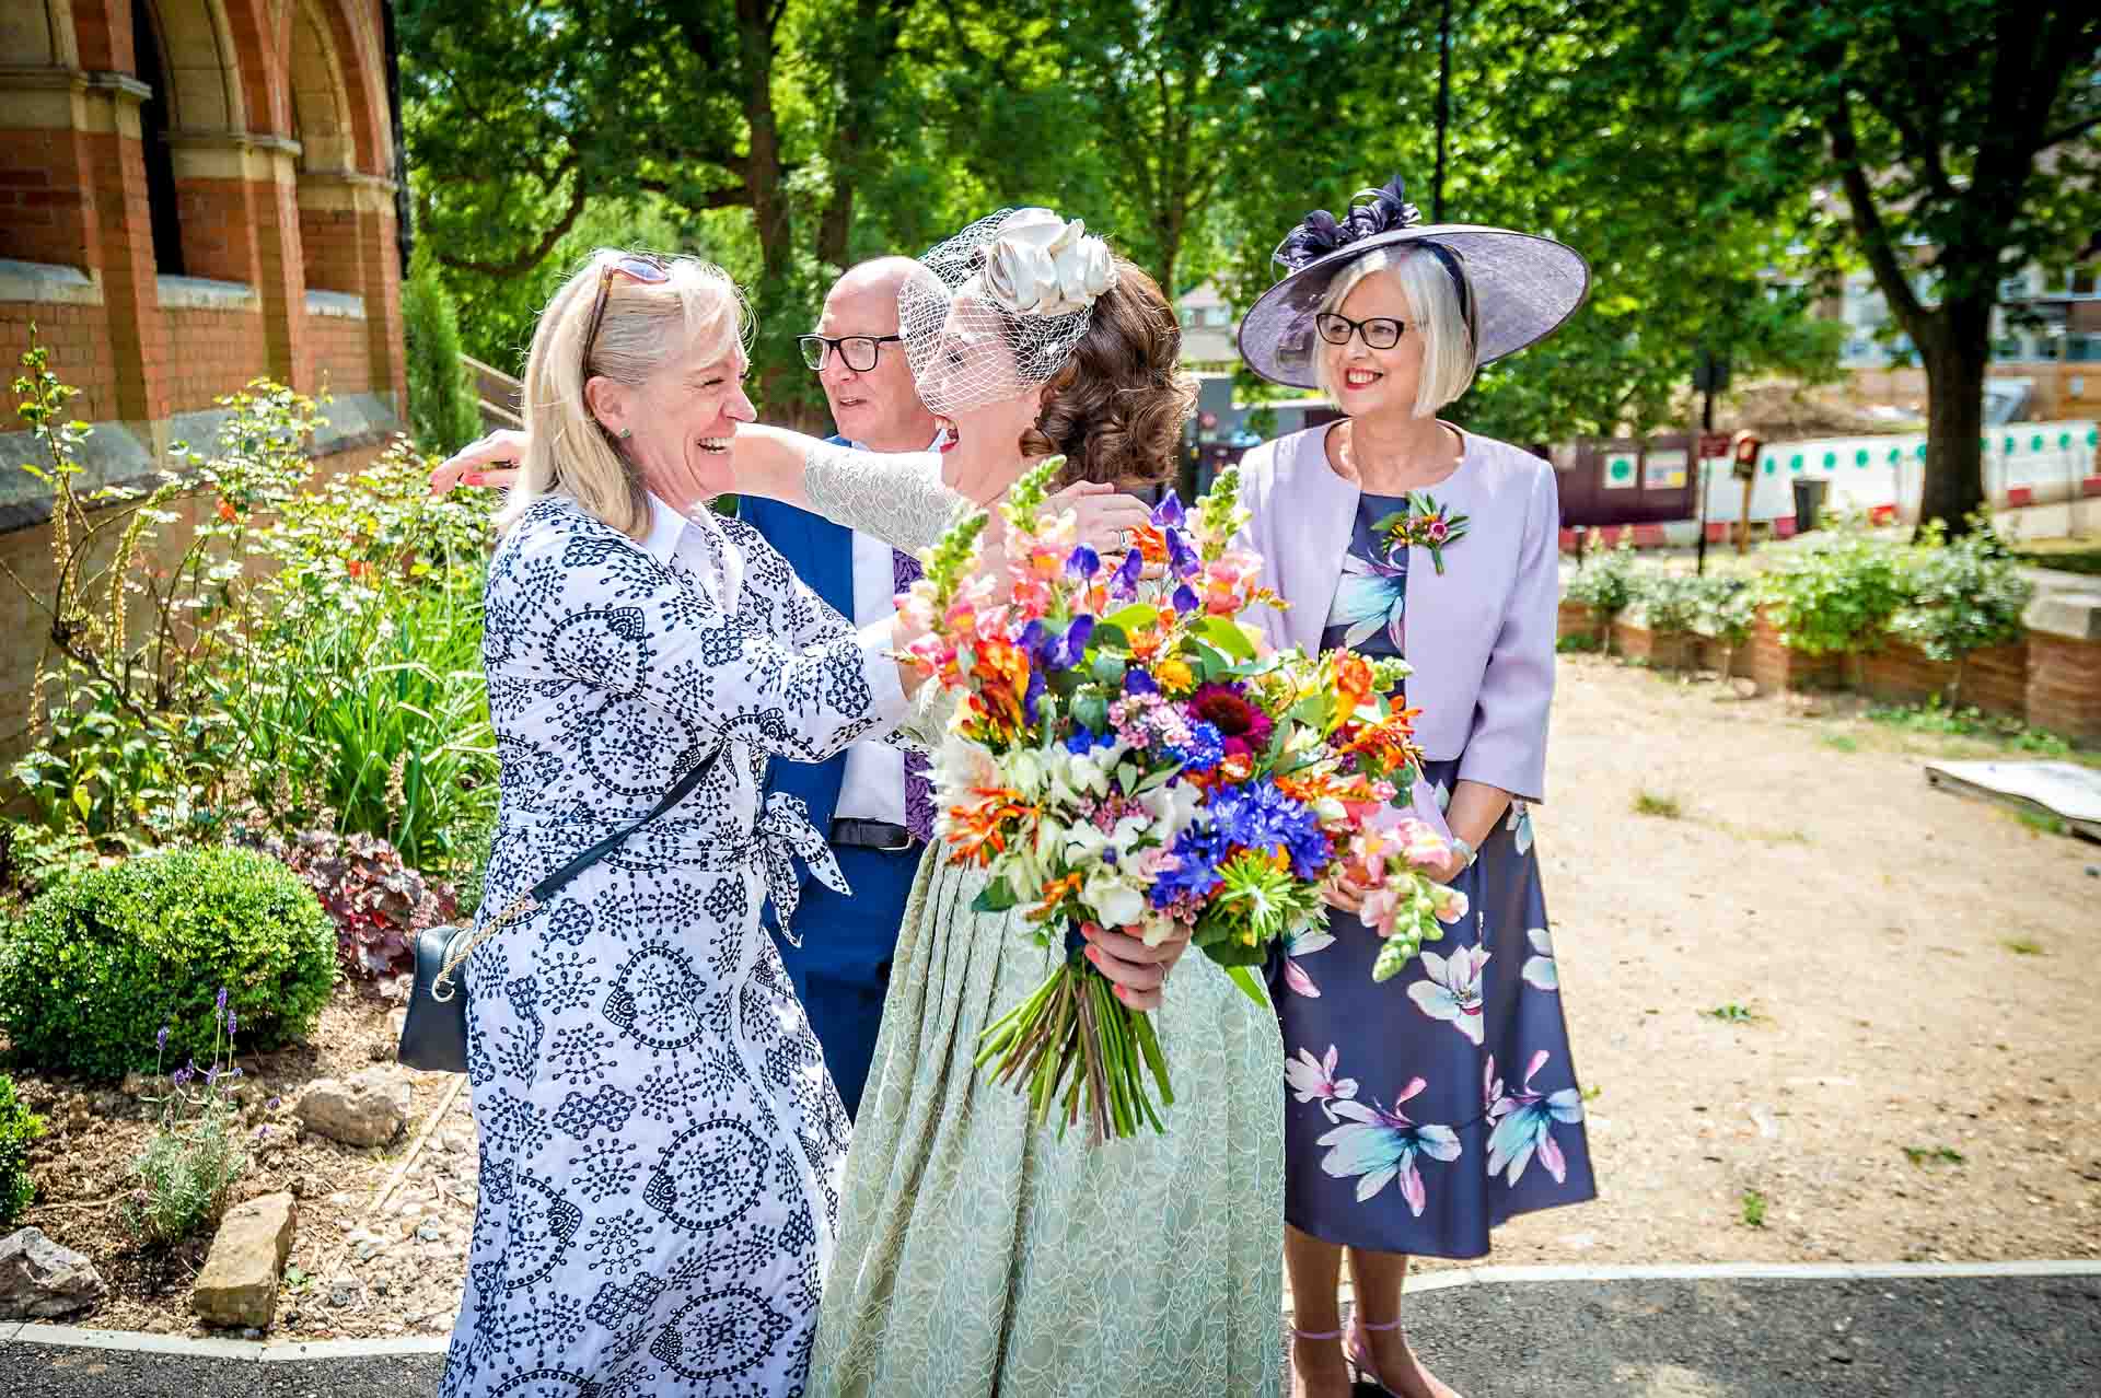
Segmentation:
<svg viewBox="0 0 2101 1398">
<path fill-rule="evenodd" d="M 1191 951 L 1153 1012 L 1174 1106 L 1088 1148 L 973 1068 L 1055 966 L 983 875 L 929 856 L 861 1098 L 811 1394 L 1275 1394 L 1284 1050 L 1275 1012 Z M 824 936 L 809 928 L 809 936 Z"/>
</svg>

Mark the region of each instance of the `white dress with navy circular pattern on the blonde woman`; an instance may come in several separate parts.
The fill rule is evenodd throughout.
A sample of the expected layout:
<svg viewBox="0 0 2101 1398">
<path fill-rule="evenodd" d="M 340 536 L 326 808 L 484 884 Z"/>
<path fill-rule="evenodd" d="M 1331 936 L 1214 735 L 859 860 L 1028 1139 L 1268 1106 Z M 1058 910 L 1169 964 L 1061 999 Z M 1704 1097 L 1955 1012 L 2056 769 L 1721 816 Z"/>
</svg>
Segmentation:
<svg viewBox="0 0 2101 1398">
<path fill-rule="evenodd" d="M 847 1117 L 758 928 L 779 842 L 824 846 L 761 777 L 903 697 L 756 531 L 651 508 L 637 544 L 542 500 L 490 567 L 485 917 L 727 745 L 469 961 L 481 1199 L 445 1398 L 803 1392 Z"/>
</svg>

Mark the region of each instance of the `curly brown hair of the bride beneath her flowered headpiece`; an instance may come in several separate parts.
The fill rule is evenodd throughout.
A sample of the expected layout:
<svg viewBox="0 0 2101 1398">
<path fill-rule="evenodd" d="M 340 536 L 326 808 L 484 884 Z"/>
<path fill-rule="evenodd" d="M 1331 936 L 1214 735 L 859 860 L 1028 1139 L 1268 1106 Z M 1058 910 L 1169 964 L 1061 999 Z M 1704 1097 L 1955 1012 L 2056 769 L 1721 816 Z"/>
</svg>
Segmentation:
<svg viewBox="0 0 2101 1398">
<path fill-rule="evenodd" d="M 1059 485 L 1101 481 L 1126 489 L 1174 474 L 1195 380 L 1181 372 L 1181 321 L 1160 285 L 1116 258 L 1116 285 L 1095 302 L 1095 323 L 1044 393 L 1025 456 L 1065 453 Z"/>
</svg>

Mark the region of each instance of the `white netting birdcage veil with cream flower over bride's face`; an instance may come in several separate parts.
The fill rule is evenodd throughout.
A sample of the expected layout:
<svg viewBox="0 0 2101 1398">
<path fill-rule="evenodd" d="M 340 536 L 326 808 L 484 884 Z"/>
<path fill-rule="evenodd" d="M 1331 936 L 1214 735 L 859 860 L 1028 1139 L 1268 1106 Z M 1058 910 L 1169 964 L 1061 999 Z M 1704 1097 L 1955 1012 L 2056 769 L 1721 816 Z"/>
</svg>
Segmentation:
<svg viewBox="0 0 2101 1398">
<path fill-rule="evenodd" d="M 956 416 L 1050 382 L 1116 285 L 1109 246 L 1046 208 L 987 214 L 920 258 L 897 292 L 920 401 Z"/>
</svg>

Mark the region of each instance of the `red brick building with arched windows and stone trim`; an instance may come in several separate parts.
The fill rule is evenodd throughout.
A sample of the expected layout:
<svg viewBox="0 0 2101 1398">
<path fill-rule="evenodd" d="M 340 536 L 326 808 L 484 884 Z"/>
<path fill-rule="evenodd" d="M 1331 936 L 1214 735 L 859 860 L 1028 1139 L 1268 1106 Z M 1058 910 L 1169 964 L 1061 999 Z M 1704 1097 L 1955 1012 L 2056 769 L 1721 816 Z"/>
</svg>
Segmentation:
<svg viewBox="0 0 2101 1398">
<path fill-rule="evenodd" d="M 0 355 L 36 321 L 90 474 L 206 439 L 258 374 L 334 395 L 324 453 L 403 418 L 384 6 L 0 0 Z M 0 531 L 36 521 L 0 485 Z"/>
</svg>

